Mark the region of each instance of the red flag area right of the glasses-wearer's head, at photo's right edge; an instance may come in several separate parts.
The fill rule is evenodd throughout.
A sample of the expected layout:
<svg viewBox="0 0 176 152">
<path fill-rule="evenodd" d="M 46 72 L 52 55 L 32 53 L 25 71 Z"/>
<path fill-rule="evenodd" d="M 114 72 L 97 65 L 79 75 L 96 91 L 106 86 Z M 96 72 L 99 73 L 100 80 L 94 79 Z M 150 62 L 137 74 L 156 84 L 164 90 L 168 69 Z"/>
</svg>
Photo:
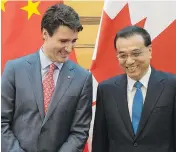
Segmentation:
<svg viewBox="0 0 176 152">
<path fill-rule="evenodd" d="M 154 68 L 176 74 L 176 20 L 152 41 Z"/>
</svg>

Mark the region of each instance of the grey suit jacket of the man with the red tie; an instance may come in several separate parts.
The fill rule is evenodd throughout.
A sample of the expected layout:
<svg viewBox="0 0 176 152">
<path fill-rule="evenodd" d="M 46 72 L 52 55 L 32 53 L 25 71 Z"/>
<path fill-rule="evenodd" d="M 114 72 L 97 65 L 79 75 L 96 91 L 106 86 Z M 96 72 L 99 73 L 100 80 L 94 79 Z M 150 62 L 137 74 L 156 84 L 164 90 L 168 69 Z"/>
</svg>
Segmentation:
<svg viewBox="0 0 176 152">
<path fill-rule="evenodd" d="M 38 52 L 6 64 L 1 91 L 3 152 L 83 150 L 92 114 L 88 71 L 70 60 L 64 63 L 46 116 Z"/>
</svg>

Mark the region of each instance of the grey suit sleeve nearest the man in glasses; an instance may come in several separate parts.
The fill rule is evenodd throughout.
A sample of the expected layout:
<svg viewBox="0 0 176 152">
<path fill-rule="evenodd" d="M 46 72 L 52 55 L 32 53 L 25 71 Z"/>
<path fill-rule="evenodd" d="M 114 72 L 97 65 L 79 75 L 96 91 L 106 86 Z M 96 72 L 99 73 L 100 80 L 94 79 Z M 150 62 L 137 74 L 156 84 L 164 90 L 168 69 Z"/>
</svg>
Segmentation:
<svg viewBox="0 0 176 152">
<path fill-rule="evenodd" d="M 58 152 L 82 152 L 92 119 L 92 75 L 84 83 L 67 141 Z"/>
</svg>

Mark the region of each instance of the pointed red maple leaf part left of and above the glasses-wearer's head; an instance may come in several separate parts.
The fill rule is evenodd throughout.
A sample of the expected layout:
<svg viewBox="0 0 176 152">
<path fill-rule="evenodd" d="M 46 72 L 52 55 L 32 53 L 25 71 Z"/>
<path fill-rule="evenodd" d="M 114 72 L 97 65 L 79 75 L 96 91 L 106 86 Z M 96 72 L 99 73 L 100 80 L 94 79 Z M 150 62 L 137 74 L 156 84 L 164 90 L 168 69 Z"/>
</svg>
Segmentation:
<svg viewBox="0 0 176 152">
<path fill-rule="evenodd" d="M 146 18 L 136 25 L 144 27 Z M 96 60 L 93 61 L 91 72 L 98 82 L 123 73 L 116 58 L 114 38 L 118 31 L 131 25 L 129 6 L 126 4 L 114 19 L 104 11 L 99 35 Z"/>
</svg>

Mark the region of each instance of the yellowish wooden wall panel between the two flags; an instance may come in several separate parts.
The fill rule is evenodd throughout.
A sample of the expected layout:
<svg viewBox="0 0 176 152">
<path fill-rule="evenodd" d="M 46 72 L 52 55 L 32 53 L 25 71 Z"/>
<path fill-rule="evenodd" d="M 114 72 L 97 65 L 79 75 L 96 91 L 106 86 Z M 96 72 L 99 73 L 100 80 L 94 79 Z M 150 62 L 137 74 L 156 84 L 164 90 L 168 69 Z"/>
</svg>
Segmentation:
<svg viewBox="0 0 176 152">
<path fill-rule="evenodd" d="M 84 29 L 79 33 L 75 51 L 78 63 L 89 69 L 104 1 L 64 1 L 64 3 L 73 7 L 80 15 Z"/>
</svg>

